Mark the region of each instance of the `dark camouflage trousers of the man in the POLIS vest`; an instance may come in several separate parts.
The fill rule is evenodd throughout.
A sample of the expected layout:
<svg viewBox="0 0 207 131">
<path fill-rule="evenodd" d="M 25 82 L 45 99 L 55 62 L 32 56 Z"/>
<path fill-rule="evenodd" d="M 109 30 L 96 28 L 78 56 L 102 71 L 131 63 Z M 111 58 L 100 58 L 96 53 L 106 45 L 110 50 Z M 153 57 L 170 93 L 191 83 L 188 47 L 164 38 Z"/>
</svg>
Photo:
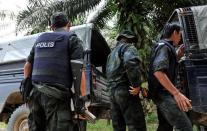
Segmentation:
<svg viewBox="0 0 207 131">
<path fill-rule="evenodd" d="M 28 105 L 29 131 L 74 131 L 69 103 L 34 88 Z"/>
</svg>

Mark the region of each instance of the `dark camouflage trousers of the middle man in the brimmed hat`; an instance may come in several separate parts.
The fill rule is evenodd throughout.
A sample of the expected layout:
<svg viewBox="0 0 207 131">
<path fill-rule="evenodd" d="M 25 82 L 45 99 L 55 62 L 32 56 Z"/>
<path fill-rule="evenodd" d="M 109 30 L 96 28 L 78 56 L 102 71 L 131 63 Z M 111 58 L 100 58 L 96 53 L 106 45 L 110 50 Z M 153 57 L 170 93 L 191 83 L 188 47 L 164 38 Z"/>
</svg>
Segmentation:
<svg viewBox="0 0 207 131">
<path fill-rule="evenodd" d="M 144 112 L 138 96 L 126 87 L 111 91 L 111 116 L 114 131 L 146 131 Z"/>
</svg>

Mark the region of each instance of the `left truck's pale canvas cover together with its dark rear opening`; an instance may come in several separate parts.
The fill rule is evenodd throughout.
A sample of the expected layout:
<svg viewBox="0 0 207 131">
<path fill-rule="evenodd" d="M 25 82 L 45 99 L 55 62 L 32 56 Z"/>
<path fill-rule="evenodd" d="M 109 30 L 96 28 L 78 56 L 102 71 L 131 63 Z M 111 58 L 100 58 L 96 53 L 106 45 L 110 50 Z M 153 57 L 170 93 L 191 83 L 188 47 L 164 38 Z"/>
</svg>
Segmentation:
<svg viewBox="0 0 207 131">
<path fill-rule="evenodd" d="M 92 23 L 73 26 L 70 28 L 70 31 L 75 32 L 83 41 L 84 51 L 91 51 L 93 56 L 91 61 L 95 66 L 105 64 L 110 48 L 100 32 L 93 27 Z M 40 34 L 0 41 L 0 65 L 26 59 Z"/>
</svg>

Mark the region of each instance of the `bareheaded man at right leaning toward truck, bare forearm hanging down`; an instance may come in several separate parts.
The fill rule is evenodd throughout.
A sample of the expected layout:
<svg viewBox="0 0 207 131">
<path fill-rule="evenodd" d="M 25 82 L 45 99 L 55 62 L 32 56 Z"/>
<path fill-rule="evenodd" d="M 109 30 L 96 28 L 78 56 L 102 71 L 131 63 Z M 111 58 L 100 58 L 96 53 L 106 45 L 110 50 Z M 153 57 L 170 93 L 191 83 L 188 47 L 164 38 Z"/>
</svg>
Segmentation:
<svg viewBox="0 0 207 131">
<path fill-rule="evenodd" d="M 181 40 L 180 25 L 168 23 L 160 40 L 151 53 L 149 69 L 149 96 L 157 105 L 159 127 L 157 131 L 192 131 L 186 113 L 192 108 L 190 100 L 176 87 L 177 60 L 183 54 L 183 46 L 176 54 L 175 47 Z"/>
</svg>

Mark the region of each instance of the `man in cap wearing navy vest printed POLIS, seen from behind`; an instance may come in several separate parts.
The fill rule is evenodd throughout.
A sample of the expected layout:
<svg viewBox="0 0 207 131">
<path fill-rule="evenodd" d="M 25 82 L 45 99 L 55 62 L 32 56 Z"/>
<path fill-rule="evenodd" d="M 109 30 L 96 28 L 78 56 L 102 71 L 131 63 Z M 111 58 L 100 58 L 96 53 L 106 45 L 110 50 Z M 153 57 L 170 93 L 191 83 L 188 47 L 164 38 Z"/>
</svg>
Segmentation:
<svg viewBox="0 0 207 131">
<path fill-rule="evenodd" d="M 70 60 L 82 59 L 82 41 L 69 31 L 71 25 L 64 13 L 53 14 L 50 21 L 54 32 L 38 37 L 24 66 L 25 78 L 31 76 L 34 85 L 29 130 L 73 131 Z"/>
</svg>

